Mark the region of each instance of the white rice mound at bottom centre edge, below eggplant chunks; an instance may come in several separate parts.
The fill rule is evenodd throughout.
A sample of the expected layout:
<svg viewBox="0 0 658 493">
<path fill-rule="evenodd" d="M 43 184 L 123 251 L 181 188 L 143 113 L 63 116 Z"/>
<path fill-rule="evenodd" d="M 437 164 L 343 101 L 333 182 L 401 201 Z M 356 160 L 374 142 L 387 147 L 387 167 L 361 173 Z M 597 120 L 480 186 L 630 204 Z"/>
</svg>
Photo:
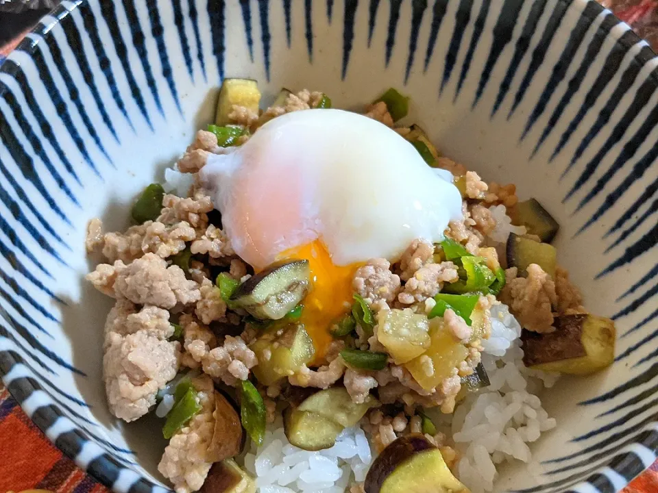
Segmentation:
<svg viewBox="0 0 658 493">
<path fill-rule="evenodd" d="M 244 458 L 259 493 L 343 493 L 365 480 L 371 462 L 370 445 L 359 427 L 343 430 L 331 448 L 308 452 L 288 442 L 281 418 L 268 427 L 263 445 L 252 442 Z"/>
</svg>

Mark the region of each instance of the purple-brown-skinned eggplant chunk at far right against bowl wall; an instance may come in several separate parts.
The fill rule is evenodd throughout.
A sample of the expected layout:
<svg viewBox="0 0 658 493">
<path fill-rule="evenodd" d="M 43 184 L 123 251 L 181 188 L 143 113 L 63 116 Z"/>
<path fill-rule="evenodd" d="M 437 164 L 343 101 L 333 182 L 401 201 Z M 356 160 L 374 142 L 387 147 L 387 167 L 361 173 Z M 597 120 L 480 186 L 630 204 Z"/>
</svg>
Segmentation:
<svg viewBox="0 0 658 493">
<path fill-rule="evenodd" d="M 589 314 L 555 318 L 555 331 L 522 333 L 523 362 L 546 372 L 587 375 L 610 366 L 615 359 L 615 323 Z"/>
</svg>

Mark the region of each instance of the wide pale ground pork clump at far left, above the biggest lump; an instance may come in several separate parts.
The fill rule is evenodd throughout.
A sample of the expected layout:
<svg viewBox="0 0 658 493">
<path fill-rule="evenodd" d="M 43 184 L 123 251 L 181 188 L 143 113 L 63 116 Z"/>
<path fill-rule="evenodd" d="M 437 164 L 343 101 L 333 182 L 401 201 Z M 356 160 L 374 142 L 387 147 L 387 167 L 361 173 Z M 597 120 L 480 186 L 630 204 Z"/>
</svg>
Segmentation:
<svg viewBox="0 0 658 493">
<path fill-rule="evenodd" d="M 114 268 L 115 274 L 110 273 L 108 267 Z M 183 270 L 178 266 L 167 267 L 167 262 L 154 253 L 147 253 L 132 264 L 125 265 L 121 260 L 114 262 L 114 266 L 100 264 L 96 271 L 101 269 L 103 279 L 109 281 L 114 277 L 114 296 L 125 298 L 138 305 L 155 305 L 171 309 L 176 303 L 189 305 L 201 298 L 199 286 L 195 281 L 188 281 Z M 95 272 L 96 272 L 95 271 Z M 99 279 L 94 273 L 87 275 L 97 286 Z M 99 286 L 107 291 L 109 286 Z"/>
</svg>

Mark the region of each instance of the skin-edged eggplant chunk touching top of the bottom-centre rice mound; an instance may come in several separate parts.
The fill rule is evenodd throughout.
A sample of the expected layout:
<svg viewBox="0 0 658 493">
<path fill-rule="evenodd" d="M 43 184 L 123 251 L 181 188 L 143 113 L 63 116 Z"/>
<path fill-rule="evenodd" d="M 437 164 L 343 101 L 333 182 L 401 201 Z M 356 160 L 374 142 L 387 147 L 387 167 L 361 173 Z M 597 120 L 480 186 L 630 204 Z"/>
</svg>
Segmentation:
<svg viewBox="0 0 658 493">
<path fill-rule="evenodd" d="M 326 416 L 291 407 L 284 412 L 283 425 L 288 441 L 306 451 L 332 447 L 343 431 L 342 425 Z"/>
</svg>

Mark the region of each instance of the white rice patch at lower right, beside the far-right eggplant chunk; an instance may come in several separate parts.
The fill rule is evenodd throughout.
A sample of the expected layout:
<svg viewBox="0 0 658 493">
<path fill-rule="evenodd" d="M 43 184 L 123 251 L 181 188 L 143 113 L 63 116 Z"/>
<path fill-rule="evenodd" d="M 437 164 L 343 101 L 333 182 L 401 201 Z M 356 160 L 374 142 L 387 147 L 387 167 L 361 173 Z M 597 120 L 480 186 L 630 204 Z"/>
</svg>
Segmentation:
<svg viewBox="0 0 658 493">
<path fill-rule="evenodd" d="M 528 443 L 556 425 L 537 392 L 552 387 L 558 376 L 524 366 L 521 327 L 507 306 L 494 306 L 491 315 L 491 338 L 483 341 L 482 355 L 491 385 L 467 397 L 452 418 L 452 439 L 463 453 L 456 476 L 472 493 L 493 490 L 498 464 L 531 463 Z"/>
</svg>

